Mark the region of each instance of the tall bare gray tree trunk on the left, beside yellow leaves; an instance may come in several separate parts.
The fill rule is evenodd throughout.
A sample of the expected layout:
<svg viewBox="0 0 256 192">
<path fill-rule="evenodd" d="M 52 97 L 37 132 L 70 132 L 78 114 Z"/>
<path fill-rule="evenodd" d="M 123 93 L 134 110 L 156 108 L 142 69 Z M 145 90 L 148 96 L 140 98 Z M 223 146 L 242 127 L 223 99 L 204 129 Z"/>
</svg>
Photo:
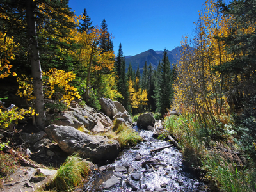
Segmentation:
<svg viewBox="0 0 256 192">
<path fill-rule="evenodd" d="M 39 58 L 38 42 L 36 40 L 36 23 L 33 9 L 33 0 L 26 0 L 26 19 L 28 24 L 28 43 L 29 43 L 29 60 L 31 63 L 31 73 L 33 77 L 33 86 L 35 94 L 35 111 L 36 124 L 40 129 L 44 129 L 45 125 L 45 111 L 44 111 L 44 94 L 42 70 Z"/>
</svg>

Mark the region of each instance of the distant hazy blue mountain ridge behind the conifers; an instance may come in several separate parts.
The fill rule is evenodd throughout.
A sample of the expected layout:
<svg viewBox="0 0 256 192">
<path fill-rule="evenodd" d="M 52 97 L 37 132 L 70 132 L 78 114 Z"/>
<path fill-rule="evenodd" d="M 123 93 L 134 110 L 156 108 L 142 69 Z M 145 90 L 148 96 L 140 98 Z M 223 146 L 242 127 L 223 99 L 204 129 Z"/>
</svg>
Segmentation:
<svg viewBox="0 0 256 192">
<path fill-rule="evenodd" d="M 176 47 L 172 51 L 167 50 L 167 56 L 169 58 L 171 67 L 173 63 L 180 61 L 181 58 L 181 51 L 182 47 Z M 140 54 L 136 54 L 135 56 L 125 56 L 125 64 L 128 68 L 129 63 L 131 63 L 132 68 L 137 70 L 139 65 L 140 72 L 143 71 L 143 66 L 145 65 L 145 61 L 147 61 L 147 65 L 152 64 L 153 68 L 157 68 L 159 61 L 163 58 L 164 51 L 154 51 L 153 49 L 149 49 L 148 51 L 141 52 Z"/>
</svg>

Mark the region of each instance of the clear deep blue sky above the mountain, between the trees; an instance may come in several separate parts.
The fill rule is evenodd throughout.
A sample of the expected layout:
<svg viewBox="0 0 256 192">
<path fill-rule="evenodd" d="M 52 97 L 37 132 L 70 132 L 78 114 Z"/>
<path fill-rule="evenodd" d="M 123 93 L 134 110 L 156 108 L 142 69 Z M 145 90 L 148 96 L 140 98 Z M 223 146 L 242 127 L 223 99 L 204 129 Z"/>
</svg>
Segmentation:
<svg viewBox="0 0 256 192">
<path fill-rule="evenodd" d="M 93 25 L 105 18 L 113 35 L 115 54 L 119 43 L 124 56 L 136 55 L 148 49 L 172 50 L 180 46 L 182 35 L 193 33 L 198 11 L 205 0 L 70 0 L 76 15 L 84 8 Z"/>
</svg>

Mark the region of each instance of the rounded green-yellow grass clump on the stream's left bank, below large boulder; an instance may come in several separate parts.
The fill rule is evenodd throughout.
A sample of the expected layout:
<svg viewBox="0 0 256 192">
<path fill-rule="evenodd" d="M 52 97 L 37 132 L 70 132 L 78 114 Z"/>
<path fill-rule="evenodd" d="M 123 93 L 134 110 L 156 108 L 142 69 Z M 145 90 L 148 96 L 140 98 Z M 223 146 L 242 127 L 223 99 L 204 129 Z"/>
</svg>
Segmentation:
<svg viewBox="0 0 256 192">
<path fill-rule="evenodd" d="M 83 175 L 89 171 L 88 164 L 79 158 L 79 154 L 74 154 L 67 157 L 49 186 L 57 191 L 70 191 L 81 184 Z"/>
</svg>

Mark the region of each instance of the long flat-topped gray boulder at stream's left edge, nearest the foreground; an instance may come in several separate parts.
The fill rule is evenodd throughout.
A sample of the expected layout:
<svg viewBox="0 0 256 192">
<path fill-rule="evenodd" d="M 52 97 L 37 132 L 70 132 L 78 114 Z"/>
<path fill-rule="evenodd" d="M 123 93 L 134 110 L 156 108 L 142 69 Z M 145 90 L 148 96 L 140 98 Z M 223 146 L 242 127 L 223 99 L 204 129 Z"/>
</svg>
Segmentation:
<svg viewBox="0 0 256 192">
<path fill-rule="evenodd" d="M 106 136 L 95 136 L 81 132 L 74 127 L 49 125 L 45 132 L 56 141 L 64 152 L 73 154 L 80 152 L 84 159 L 96 163 L 114 160 L 119 154 L 120 145 L 116 140 L 109 140 Z"/>
</svg>

